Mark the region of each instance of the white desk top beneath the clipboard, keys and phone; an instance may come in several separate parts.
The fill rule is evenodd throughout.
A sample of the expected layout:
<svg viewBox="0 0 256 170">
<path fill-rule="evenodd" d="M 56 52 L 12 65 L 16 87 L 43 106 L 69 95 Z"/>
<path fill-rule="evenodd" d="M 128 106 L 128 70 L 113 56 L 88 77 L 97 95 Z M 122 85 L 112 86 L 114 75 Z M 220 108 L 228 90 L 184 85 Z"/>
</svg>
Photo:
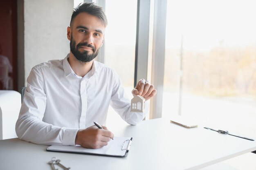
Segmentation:
<svg viewBox="0 0 256 170">
<path fill-rule="evenodd" d="M 195 170 L 207 166 L 203 170 L 210 170 L 220 169 L 211 168 L 220 166 L 215 163 L 256 150 L 256 141 L 219 134 L 200 126 L 186 129 L 167 119 L 142 121 L 137 126 L 110 130 L 115 136 L 133 137 L 127 157 L 47 152 L 48 146 L 8 139 L 0 141 L 0 169 L 50 170 L 47 162 L 58 157 L 71 170 Z"/>
</svg>

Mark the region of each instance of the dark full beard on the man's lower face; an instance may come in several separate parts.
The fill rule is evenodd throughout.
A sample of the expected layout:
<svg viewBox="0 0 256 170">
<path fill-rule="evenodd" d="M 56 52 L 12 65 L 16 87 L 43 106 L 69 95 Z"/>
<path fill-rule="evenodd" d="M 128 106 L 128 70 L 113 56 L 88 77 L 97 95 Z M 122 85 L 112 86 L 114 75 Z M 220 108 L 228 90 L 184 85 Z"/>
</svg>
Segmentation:
<svg viewBox="0 0 256 170">
<path fill-rule="evenodd" d="M 88 46 L 88 47 L 92 48 L 93 53 L 88 54 L 89 51 L 80 52 L 79 51 L 80 46 Z M 88 44 L 87 42 L 79 43 L 76 45 L 76 41 L 73 40 L 72 34 L 71 34 L 71 39 L 70 39 L 70 51 L 76 57 L 76 60 L 78 60 L 80 62 L 90 62 L 95 57 L 97 57 L 97 55 L 99 54 L 99 49 L 96 50 L 94 46 L 92 46 L 91 44 Z"/>
</svg>

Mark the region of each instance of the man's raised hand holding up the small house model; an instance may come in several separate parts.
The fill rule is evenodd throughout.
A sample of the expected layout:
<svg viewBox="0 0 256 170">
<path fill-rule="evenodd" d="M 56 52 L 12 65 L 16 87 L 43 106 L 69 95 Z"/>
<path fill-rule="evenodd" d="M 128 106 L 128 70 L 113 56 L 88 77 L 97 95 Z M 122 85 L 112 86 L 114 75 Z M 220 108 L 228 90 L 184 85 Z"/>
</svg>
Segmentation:
<svg viewBox="0 0 256 170">
<path fill-rule="evenodd" d="M 152 84 L 150 84 L 145 79 L 140 79 L 135 88 L 132 90 L 132 95 L 141 95 L 145 100 L 150 99 L 151 97 L 157 94 L 157 90 Z"/>
</svg>

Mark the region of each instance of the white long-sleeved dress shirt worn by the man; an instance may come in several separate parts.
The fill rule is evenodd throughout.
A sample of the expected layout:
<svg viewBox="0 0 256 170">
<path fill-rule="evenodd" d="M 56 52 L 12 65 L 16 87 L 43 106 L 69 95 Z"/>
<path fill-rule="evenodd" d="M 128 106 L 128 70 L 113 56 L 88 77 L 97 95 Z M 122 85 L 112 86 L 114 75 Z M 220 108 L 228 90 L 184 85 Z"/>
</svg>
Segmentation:
<svg viewBox="0 0 256 170">
<path fill-rule="evenodd" d="M 130 111 L 130 100 L 117 73 L 97 61 L 84 77 L 74 73 L 67 57 L 34 66 L 27 78 L 17 136 L 36 144 L 75 145 L 79 129 L 97 121 L 105 125 L 109 105 L 128 124 L 135 125 L 149 111 Z M 132 89 L 131 89 L 132 90 Z"/>
</svg>

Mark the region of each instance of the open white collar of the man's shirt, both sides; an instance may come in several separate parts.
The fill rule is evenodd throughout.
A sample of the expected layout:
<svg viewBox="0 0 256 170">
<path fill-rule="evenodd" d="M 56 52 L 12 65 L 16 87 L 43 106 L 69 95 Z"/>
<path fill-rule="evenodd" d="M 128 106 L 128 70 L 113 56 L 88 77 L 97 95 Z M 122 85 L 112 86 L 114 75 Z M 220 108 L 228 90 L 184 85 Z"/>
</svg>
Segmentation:
<svg viewBox="0 0 256 170">
<path fill-rule="evenodd" d="M 69 76 L 70 74 L 74 74 L 74 71 L 72 70 L 69 62 L 67 61 L 68 57 L 69 57 L 70 53 L 67 54 L 67 56 L 64 58 L 63 60 L 63 69 L 64 69 L 64 73 L 65 73 L 65 76 Z M 97 73 L 98 71 L 98 68 L 99 68 L 99 65 L 96 61 L 93 61 L 92 63 L 92 69 L 84 76 L 84 78 L 90 78 L 92 77 L 95 73 Z"/>
</svg>

